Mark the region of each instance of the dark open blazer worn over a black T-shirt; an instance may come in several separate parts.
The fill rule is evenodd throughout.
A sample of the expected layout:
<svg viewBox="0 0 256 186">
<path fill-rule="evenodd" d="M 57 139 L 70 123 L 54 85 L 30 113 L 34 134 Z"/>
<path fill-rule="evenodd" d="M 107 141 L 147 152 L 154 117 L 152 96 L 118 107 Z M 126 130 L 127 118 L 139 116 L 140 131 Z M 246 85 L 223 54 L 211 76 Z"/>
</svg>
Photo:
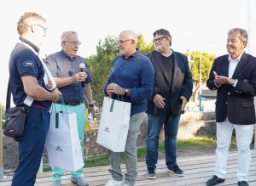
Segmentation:
<svg viewBox="0 0 256 186">
<path fill-rule="evenodd" d="M 174 55 L 174 72 L 172 78 L 172 88 L 169 87 L 167 71 L 161 58 L 161 54 L 157 51 L 147 54 L 154 67 L 154 93 L 151 99 L 147 100 L 147 113 L 152 115 L 166 114 L 167 106 L 169 106 L 172 115 L 181 114 L 182 100 L 181 96 L 190 99 L 193 90 L 193 81 L 189 69 L 188 58 L 180 53 L 173 52 Z M 170 75 L 168 75 L 170 76 Z M 158 109 L 154 102 L 154 96 L 159 93 L 166 98 L 166 106 Z"/>
</svg>

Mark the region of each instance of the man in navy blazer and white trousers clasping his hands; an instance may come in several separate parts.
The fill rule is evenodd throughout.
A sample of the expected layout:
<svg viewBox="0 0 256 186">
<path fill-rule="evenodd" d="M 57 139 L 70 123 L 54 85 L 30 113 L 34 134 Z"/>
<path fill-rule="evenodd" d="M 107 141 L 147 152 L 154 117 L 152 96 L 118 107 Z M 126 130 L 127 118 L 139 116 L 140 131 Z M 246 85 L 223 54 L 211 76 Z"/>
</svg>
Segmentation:
<svg viewBox="0 0 256 186">
<path fill-rule="evenodd" d="M 255 123 L 256 59 L 244 52 L 247 31 L 234 28 L 228 32 L 226 48 L 229 54 L 214 60 L 207 87 L 217 90 L 217 149 L 214 176 L 207 186 L 223 183 L 232 132 L 236 130 L 238 149 L 237 180 L 247 186 L 251 161 L 250 144 Z"/>
</svg>

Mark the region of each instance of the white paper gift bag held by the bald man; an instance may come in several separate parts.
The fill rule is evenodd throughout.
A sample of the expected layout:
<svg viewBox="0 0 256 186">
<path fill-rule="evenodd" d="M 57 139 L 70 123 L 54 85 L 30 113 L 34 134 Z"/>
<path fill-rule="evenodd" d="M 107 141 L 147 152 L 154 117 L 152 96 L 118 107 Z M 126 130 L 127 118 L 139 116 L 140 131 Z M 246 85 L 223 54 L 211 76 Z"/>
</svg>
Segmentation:
<svg viewBox="0 0 256 186">
<path fill-rule="evenodd" d="M 96 143 L 113 152 L 124 152 L 130 113 L 131 103 L 105 97 Z"/>
</svg>

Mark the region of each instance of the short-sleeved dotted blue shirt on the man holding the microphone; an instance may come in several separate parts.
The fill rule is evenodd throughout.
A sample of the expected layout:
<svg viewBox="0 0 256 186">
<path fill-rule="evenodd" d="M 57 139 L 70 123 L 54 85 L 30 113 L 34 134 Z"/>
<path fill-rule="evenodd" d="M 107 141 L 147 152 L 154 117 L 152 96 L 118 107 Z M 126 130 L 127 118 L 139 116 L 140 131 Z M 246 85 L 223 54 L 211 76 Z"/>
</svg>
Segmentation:
<svg viewBox="0 0 256 186">
<path fill-rule="evenodd" d="M 74 59 L 71 59 L 63 50 L 61 50 L 55 54 L 50 54 L 45 60 L 45 65 L 47 65 L 54 77 L 68 77 L 79 73 L 81 71 L 79 67 L 80 63 L 85 65 L 85 72 L 87 74 L 85 83 L 92 82 L 90 69 L 84 58 L 79 55 L 76 55 Z M 62 93 L 65 103 L 82 102 L 85 98 L 84 87 L 82 87 L 81 82 L 60 87 L 59 90 Z"/>
</svg>

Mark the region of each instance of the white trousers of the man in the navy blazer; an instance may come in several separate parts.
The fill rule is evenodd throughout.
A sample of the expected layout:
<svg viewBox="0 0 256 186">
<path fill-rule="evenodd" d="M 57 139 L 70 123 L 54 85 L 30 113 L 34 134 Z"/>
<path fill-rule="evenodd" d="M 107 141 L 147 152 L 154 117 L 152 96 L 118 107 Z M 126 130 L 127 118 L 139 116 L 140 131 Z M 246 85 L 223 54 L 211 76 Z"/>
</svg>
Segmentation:
<svg viewBox="0 0 256 186">
<path fill-rule="evenodd" d="M 236 131 L 236 146 L 238 149 L 237 180 L 238 182 L 248 181 L 248 172 L 251 163 L 250 144 L 253 140 L 253 125 L 232 124 L 228 119 L 223 122 L 217 122 L 215 175 L 223 179 L 226 176 L 228 153 L 234 128 Z"/>
</svg>

